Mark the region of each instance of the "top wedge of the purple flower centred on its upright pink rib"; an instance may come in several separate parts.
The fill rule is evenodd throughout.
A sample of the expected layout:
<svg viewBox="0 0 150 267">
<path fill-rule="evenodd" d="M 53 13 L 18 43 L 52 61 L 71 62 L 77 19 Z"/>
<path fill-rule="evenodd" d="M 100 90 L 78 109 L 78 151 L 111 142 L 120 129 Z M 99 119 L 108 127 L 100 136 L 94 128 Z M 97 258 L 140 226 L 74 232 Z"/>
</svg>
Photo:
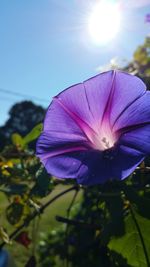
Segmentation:
<svg viewBox="0 0 150 267">
<path fill-rule="evenodd" d="M 104 118 L 114 125 L 123 112 L 146 92 L 137 77 L 121 71 L 108 71 L 84 82 L 95 123 Z"/>
</svg>

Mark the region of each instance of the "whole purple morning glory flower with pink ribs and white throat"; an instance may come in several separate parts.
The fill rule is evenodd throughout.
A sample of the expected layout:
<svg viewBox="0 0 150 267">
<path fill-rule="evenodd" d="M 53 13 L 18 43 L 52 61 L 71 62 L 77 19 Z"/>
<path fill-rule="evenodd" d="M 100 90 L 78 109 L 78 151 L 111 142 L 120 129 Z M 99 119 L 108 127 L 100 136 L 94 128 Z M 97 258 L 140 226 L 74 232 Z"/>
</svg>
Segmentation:
<svg viewBox="0 0 150 267">
<path fill-rule="evenodd" d="M 109 71 L 54 97 L 37 142 L 49 173 L 85 185 L 124 179 L 150 153 L 150 92 Z"/>
</svg>

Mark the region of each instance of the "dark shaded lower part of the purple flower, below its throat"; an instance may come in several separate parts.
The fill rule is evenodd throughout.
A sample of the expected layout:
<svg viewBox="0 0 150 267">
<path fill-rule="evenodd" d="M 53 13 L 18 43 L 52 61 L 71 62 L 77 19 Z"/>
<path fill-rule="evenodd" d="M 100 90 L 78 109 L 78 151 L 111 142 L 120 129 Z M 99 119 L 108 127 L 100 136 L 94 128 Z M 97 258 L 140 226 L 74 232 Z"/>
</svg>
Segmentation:
<svg viewBox="0 0 150 267">
<path fill-rule="evenodd" d="M 47 171 L 58 178 L 75 178 L 78 183 L 94 185 L 110 179 L 123 179 L 143 160 L 143 153 L 125 145 L 114 151 L 89 150 L 86 139 L 79 140 L 55 133 L 43 133 L 38 140 L 37 155 Z M 59 142 L 58 142 L 59 140 Z M 78 141 L 80 141 L 78 143 Z M 82 142 L 81 142 L 82 141 Z"/>
</svg>

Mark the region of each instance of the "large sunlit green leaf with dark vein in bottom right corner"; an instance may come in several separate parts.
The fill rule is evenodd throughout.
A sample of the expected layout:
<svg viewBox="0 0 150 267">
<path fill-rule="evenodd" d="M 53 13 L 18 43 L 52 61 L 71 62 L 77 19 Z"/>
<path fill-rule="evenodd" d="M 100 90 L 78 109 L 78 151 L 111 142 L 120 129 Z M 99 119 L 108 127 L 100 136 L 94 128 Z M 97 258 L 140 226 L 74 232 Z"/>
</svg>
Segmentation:
<svg viewBox="0 0 150 267">
<path fill-rule="evenodd" d="M 133 267 L 149 267 L 150 220 L 135 211 L 125 218 L 125 232 L 122 237 L 113 237 L 108 247 L 127 259 Z"/>
</svg>

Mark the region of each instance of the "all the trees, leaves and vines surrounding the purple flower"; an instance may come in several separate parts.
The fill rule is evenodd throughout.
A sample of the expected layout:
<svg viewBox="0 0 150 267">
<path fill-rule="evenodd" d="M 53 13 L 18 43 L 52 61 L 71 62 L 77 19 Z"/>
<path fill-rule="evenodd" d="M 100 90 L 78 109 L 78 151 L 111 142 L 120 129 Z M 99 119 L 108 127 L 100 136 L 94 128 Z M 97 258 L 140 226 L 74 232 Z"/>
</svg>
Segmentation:
<svg viewBox="0 0 150 267">
<path fill-rule="evenodd" d="M 124 70 L 150 88 L 150 38 Z M 0 247 L 19 267 L 149 267 L 150 159 L 122 182 L 57 180 L 35 157 L 44 114 L 18 103 L 0 128 Z"/>
</svg>

